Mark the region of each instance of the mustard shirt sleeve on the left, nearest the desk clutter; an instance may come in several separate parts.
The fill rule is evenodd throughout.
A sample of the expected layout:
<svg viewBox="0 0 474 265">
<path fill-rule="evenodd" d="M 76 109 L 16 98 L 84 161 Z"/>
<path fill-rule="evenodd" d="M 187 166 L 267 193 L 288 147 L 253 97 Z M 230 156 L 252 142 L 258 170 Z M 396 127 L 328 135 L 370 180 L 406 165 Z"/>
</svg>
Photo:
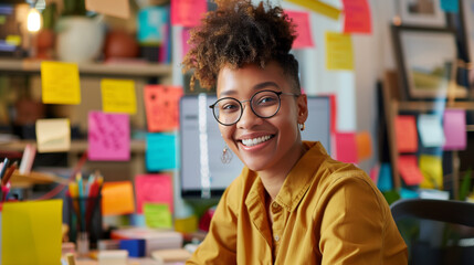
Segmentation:
<svg viewBox="0 0 474 265">
<path fill-rule="evenodd" d="M 236 264 L 236 214 L 230 204 L 229 188 L 212 216 L 209 233 L 186 262 L 187 265 Z"/>
</svg>

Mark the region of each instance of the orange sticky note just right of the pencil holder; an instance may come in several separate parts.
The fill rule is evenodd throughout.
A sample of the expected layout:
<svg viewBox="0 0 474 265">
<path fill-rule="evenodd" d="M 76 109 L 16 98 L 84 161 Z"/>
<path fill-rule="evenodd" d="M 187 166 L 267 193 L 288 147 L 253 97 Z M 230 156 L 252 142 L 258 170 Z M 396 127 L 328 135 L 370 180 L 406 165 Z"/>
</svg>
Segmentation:
<svg viewBox="0 0 474 265">
<path fill-rule="evenodd" d="M 102 214 L 116 215 L 134 212 L 135 200 L 131 182 L 104 182 L 102 188 Z"/>
</svg>

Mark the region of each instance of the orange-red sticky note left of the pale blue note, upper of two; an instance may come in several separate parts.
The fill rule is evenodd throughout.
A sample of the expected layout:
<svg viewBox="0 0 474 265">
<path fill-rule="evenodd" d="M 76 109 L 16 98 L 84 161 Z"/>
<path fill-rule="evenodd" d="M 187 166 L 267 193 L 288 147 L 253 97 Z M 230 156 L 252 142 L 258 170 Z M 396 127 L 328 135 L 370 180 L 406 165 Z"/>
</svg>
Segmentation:
<svg viewBox="0 0 474 265">
<path fill-rule="evenodd" d="M 418 150 L 417 120 L 412 115 L 399 115 L 394 120 L 397 150 L 415 152 Z"/>
</svg>

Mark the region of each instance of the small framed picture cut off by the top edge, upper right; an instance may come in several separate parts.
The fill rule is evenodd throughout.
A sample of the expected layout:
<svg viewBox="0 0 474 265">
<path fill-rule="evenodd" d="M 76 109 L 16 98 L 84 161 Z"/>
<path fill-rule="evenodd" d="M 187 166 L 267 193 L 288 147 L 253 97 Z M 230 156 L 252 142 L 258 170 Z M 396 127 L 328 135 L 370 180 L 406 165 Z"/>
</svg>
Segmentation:
<svg viewBox="0 0 474 265">
<path fill-rule="evenodd" d="M 446 18 L 441 0 L 398 0 L 398 13 L 402 24 L 445 26 Z"/>
</svg>

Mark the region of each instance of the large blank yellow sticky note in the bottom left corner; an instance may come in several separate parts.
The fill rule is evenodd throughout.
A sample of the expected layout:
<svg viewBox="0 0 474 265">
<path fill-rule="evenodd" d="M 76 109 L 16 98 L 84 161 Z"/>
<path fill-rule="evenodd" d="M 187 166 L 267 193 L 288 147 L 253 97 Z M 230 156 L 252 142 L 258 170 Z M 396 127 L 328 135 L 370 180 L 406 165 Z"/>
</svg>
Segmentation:
<svg viewBox="0 0 474 265">
<path fill-rule="evenodd" d="M 62 200 L 4 203 L 2 264 L 61 264 L 62 210 Z"/>
</svg>

